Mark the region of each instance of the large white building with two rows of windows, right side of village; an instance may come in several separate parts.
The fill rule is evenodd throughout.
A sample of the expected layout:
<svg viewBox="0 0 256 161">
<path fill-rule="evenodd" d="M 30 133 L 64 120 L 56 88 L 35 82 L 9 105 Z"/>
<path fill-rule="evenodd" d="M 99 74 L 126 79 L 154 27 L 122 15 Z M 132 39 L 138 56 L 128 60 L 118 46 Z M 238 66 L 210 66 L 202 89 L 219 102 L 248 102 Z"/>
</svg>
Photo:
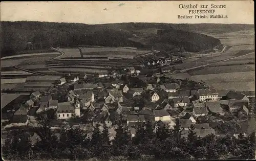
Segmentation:
<svg viewBox="0 0 256 161">
<path fill-rule="evenodd" d="M 217 101 L 218 93 L 216 89 L 198 89 L 198 97 L 201 102 Z"/>
</svg>

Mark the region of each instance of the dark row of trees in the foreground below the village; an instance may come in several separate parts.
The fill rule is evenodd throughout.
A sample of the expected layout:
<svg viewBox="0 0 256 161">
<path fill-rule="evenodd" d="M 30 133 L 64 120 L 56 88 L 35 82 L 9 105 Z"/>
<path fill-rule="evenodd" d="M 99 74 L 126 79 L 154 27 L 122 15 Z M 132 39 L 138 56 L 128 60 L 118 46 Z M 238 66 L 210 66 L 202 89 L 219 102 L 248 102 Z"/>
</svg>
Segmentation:
<svg viewBox="0 0 256 161">
<path fill-rule="evenodd" d="M 14 130 L 3 146 L 5 160 L 182 160 L 182 159 L 253 159 L 255 158 L 255 133 L 238 138 L 225 135 L 197 137 L 193 125 L 188 136 L 182 137 L 177 119 L 174 129 L 151 122 L 139 125 L 131 139 L 127 128 L 116 127 L 114 140 L 110 141 L 108 128 L 95 127 L 91 137 L 79 127 L 62 127 L 59 136 L 54 134 L 47 120 L 41 121 L 34 131 L 40 136 L 31 144 L 26 130 Z"/>
</svg>

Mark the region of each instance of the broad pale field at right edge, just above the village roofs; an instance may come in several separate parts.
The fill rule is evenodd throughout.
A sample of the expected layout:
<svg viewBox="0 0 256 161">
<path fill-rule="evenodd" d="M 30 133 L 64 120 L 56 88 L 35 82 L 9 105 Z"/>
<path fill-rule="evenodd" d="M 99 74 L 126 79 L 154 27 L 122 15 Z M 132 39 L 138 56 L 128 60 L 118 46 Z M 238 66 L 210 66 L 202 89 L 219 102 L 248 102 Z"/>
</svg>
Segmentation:
<svg viewBox="0 0 256 161">
<path fill-rule="evenodd" d="M 196 81 L 203 80 L 217 89 L 255 90 L 254 71 L 195 75 L 191 76 L 191 78 Z"/>
</svg>

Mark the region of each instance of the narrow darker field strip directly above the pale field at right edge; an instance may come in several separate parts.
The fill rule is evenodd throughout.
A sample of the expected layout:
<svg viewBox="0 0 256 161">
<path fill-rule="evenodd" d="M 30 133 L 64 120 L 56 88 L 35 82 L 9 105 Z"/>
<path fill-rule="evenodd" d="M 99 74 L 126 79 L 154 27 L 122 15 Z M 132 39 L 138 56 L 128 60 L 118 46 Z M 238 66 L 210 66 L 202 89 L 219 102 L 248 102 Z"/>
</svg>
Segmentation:
<svg viewBox="0 0 256 161">
<path fill-rule="evenodd" d="M 218 74 L 218 73 L 231 73 L 231 72 L 250 72 L 254 71 L 253 68 L 246 65 L 230 65 L 230 66 L 213 66 L 205 67 L 202 70 L 188 71 L 191 76 L 194 75 L 207 75 L 207 74 Z"/>
</svg>

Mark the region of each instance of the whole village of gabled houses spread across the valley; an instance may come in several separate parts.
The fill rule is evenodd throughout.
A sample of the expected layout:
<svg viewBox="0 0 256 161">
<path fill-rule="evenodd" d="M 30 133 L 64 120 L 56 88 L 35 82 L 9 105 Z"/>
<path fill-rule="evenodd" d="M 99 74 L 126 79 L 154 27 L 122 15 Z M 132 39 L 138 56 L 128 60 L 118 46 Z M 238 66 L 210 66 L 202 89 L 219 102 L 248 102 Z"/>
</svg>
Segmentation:
<svg viewBox="0 0 256 161">
<path fill-rule="evenodd" d="M 37 90 L 23 98 L 5 94 L 2 129 L 36 127 L 38 118 L 47 118 L 52 128 L 79 126 L 89 134 L 95 127 L 102 130 L 106 126 L 113 140 L 119 125 L 127 127 L 132 138 L 145 122 L 151 122 L 156 131 L 163 125 L 174 128 L 175 120 L 179 119 L 183 137 L 188 136 L 191 124 L 199 137 L 226 132 L 237 137 L 241 132 L 245 135 L 251 132 L 243 128 L 223 131 L 221 126 L 254 117 L 255 104 L 250 99 L 254 94 L 217 91 L 202 82 L 151 76 L 136 67 L 121 70 L 123 74 L 117 71 L 97 76 L 68 74 L 56 80 L 48 91 Z M 27 79 L 38 81 L 49 76 L 32 77 Z M 36 133 L 30 138 L 40 139 Z"/>
</svg>

